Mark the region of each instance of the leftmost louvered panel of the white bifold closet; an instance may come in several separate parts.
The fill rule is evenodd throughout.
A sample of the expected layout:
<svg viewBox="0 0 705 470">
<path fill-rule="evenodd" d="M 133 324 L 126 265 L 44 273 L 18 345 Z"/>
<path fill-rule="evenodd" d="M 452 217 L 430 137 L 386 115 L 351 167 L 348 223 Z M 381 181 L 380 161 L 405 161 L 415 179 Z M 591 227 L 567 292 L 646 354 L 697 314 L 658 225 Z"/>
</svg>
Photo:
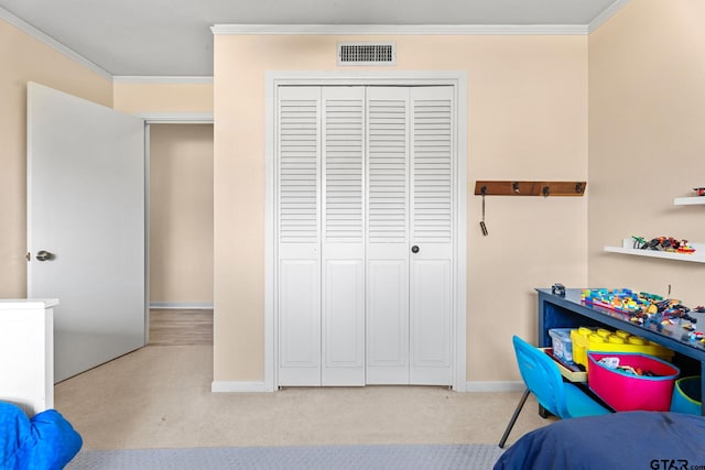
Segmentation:
<svg viewBox="0 0 705 470">
<path fill-rule="evenodd" d="M 276 119 L 279 385 L 321 385 L 321 89 L 280 87 Z"/>
</svg>

